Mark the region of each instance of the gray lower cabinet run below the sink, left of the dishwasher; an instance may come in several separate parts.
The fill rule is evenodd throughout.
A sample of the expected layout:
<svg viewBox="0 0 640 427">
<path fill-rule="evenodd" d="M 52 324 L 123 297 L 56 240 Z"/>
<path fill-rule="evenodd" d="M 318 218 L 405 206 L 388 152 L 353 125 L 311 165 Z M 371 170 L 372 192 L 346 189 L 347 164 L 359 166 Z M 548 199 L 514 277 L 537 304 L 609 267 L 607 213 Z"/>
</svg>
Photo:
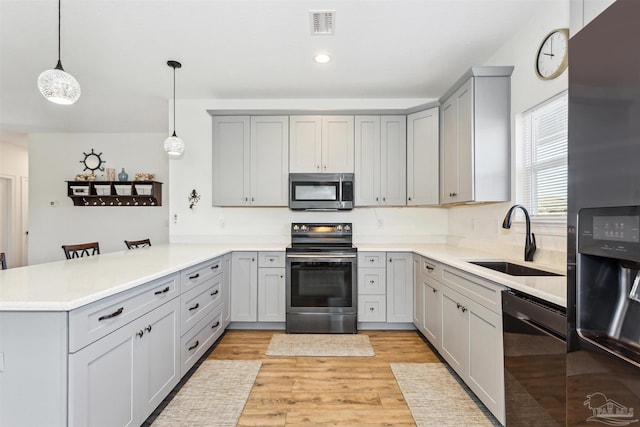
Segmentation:
<svg viewBox="0 0 640 427">
<path fill-rule="evenodd" d="M 415 255 L 414 272 L 414 325 L 504 425 L 504 287 Z"/>
</svg>

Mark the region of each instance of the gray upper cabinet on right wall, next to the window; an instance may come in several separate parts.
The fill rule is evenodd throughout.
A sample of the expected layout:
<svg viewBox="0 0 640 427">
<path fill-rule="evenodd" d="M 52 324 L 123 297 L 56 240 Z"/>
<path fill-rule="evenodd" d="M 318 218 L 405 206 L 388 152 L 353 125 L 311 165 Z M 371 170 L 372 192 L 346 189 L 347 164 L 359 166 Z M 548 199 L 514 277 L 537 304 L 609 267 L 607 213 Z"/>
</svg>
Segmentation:
<svg viewBox="0 0 640 427">
<path fill-rule="evenodd" d="M 474 67 L 441 99 L 441 204 L 510 199 L 512 71 Z"/>
</svg>

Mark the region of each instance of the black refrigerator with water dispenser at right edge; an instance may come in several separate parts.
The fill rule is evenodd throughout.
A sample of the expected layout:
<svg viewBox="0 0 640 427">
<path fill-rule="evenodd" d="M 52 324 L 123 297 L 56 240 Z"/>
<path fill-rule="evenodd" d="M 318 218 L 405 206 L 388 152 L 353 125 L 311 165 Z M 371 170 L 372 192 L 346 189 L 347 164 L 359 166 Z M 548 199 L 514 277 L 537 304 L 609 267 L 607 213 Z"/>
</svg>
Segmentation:
<svg viewBox="0 0 640 427">
<path fill-rule="evenodd" d="M 640 425 L 640 0 L 569 42 L 567 424 Z"/>
</svg>

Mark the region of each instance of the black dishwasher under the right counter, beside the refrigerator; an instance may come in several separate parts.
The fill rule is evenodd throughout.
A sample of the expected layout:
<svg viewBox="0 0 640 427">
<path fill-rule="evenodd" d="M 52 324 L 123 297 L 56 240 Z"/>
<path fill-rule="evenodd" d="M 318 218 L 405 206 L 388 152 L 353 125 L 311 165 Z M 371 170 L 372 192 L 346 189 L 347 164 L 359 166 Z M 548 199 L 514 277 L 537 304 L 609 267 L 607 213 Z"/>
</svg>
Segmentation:
<svg viewBox="0 0 640 427">
<path fill-rule="evenodd" d="M 566 309 L 513 290 L 502 293 L 508 426 L 565 426 Z"/>
</svg>

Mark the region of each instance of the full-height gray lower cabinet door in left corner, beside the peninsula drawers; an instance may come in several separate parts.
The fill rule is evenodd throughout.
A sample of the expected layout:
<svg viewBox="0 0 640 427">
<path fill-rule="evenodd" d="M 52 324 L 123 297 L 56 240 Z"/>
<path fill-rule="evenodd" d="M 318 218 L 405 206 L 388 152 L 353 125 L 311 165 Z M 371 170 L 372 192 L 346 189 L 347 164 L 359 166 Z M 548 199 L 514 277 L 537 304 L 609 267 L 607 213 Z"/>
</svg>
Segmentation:
<svg viewBox="0 0 640 427">
<path fill-rule="evenodd" d="M 231 321 L 258 320 L 258 253 L 231 255 Z"/>
</svg>

